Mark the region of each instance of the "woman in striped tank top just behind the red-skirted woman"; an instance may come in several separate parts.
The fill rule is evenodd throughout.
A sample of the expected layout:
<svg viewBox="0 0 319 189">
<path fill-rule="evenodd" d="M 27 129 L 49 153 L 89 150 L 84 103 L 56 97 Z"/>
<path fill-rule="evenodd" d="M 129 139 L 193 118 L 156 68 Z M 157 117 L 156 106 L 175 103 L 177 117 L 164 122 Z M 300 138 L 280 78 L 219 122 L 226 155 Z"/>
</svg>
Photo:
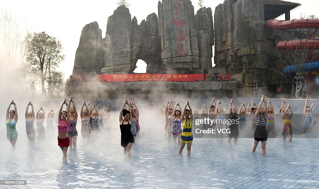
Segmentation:
<svg viewBox="0 0 319 189">
<path fill-rule="evenodd" d="M 70 108 L 71 102 L 73 103 L 73 107 Z M 75 108 L 75 103 L 71 97 L 68 109 L 70 112 L 70 124 L 68 127 L 68 136 L 70 138 L 70 146 L 75 149 L 77 147 L 77 138 L 78 138 L 78 131 L 77 131 L 77 121 L 78 121 L 78 112 Z"/>
</svg>

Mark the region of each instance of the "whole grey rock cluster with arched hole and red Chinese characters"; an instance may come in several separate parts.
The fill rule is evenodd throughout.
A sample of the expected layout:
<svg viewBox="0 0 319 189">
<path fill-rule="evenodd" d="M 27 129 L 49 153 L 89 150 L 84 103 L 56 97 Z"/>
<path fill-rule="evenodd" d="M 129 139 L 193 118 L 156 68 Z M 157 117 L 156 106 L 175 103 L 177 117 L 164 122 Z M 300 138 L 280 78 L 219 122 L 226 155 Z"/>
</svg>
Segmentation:
<svg viewBox="0 0 319 189">
<path fill-rule="evenodd" d="M 159 17 L 152 13 L 138 25 L 129 9 L 119 6 L 108 17 L 104 39 L 96 22 L 85 26 L 73 72 L 132 73 L 138 59 L 146 62 L 147 73 L 154 74 L 210 69 L 214 44 L 211 9 L 201 8 L 195 16 L 190 0 L 163 0 L 158 3 L 158 13 Z M 92 45 L 82 42 L 91 38 Z M 86 57 L 87 51 L 92 55 Z"/>
</svg>

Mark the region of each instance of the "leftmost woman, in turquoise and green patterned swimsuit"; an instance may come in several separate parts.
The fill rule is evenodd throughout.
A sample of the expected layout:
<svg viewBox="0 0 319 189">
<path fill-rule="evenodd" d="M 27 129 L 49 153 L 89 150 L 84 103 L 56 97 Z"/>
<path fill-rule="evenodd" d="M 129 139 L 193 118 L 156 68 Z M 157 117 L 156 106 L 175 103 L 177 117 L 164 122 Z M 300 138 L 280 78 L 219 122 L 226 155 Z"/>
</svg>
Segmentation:
<svg viewBox="0 0 319 189">
<path fill-rule="evenodd" d="M 11 104 L 13 104 L 14 110 L 10 110 Z M 18 121 L 17 106 L 12 100 L 6 114 L 6 126 L 7 126 L 7 139 L 10 141 L 13 148 L 16 146 L 16 142 L 18 139 L 18 131 L 16 129 L 17 121 Z"/>
</svg>

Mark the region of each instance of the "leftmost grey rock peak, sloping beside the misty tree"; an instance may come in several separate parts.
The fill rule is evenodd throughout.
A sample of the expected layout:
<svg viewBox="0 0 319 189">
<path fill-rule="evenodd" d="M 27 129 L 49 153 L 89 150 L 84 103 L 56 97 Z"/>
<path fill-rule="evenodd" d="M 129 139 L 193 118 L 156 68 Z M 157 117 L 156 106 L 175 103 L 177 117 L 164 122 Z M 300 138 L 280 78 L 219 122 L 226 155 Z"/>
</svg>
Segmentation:
<svg viewBox="0 0 319 189">
<path fill-rule="evenodd" d="M 82 29 L 78 49 L 75 53 L 72 75 L 96 72 L 104 67 L 102 31 L 97 22 L 86 24 Z"/>
</svg>

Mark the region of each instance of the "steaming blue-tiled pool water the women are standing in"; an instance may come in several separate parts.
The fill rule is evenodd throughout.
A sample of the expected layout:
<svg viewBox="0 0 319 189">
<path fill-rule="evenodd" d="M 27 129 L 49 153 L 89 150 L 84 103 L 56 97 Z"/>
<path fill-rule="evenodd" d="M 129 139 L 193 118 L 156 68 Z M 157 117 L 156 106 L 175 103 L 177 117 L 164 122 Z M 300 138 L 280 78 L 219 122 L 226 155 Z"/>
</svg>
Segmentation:
<svg viewBox="0 0 319 189">
<path fill-rule="evenodd" d="M 17 147 L 1 138 L 0 178 L 26 179 L 19 188 L 262 188 L 290 186 L 316 188 L 319 185 L 319 140 L 280 138 L 267 141 L 266 157 L 261 146 L 251 155 L 252 139 L 194 138 L 191 156 L 164 133 L 152 117 L 140 118 L 141 132 L 132 146 L 132 157 L 123 156 L 116 118 L 105 123 L 86 141 L 78 136 L 77 149 L 69 148 L 62 160 L 57 133 L 44 140 L 28 142 L 19 133 Z M 152 124 L 150 124 L 152 123 Z M 78 133 L 80 124 L 78 122 Z M 250 128 L 249 128 L 250 129 Z M 226 137 L 226 136 L 225 136 Z M 16 188 L 15 186 L 6 186 Z"/>
</svg>

